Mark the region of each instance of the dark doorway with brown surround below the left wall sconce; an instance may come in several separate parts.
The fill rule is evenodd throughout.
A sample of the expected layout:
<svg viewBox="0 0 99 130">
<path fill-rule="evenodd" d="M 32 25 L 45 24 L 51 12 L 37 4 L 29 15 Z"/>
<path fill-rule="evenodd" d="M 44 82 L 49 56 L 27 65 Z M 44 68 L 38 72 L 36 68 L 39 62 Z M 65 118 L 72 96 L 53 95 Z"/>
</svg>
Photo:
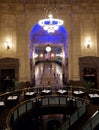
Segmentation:
<svg viewBox="0 0 99 130">
<path fill-rule="evenodd" d="M 10 82 L 12 79 L 19 79 L 19 59 L 9 57 L 0 59 L 0 89 L 6 91 L 7 88 L 14 86 L 10 83 L 8 86 L 4 84 L 4 81 L 7 82 L 8 80 Z"/>
</svg>

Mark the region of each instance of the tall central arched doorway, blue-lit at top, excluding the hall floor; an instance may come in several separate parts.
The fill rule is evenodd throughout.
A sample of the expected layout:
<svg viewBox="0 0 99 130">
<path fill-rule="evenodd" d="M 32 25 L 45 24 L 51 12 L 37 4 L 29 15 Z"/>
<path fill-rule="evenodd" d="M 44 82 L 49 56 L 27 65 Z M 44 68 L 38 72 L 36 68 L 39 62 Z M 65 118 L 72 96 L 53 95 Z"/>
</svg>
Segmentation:
<svg viewBox="0 0 99 130">
<path fill-rule="evenodd" d="M 51 52 L 46 54 L 46 47 L 51 47 Z M 35 84 L 35 65 L 38 62 L 57 62 L 62 66 L 62 80 L 66 78 L 65 60 L 68 57 L 68 35 L 63 26 L 54 33 L 48 33 L 36 24 L 30 33 L 30 69 L 31 82 Z M 50 64 L 51 65 L 51 64 Z"/>
</svg>

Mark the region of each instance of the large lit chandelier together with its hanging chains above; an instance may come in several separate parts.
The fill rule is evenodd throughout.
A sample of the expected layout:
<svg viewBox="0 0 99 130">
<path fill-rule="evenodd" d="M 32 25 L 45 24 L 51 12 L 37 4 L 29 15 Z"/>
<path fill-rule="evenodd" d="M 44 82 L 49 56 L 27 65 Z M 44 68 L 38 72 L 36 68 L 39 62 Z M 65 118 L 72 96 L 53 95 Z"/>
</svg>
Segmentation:
<svg viewBox="0 0 99 130">
<path fill-rule="evenodd" d="M 56 0 L 47 0 L 47 5 L 44 6 L 45 17 L 38 21 L 38 24 L 43 27 L 48 33 L 54 33 L 63 25 L 64 21 L 62 19 L 53 18 L 53 13 L 57 16 Z M 52 13 L 53 12 L 53 13 Z M 46 18 L 46 16 L 48 18 Z"/>
</svg>

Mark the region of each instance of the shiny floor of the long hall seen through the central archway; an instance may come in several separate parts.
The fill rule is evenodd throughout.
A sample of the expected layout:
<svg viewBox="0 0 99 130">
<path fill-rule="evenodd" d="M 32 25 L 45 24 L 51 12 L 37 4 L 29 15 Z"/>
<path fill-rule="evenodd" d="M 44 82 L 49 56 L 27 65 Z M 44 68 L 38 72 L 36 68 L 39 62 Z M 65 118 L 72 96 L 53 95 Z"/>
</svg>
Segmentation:
<svg viewBox="0 0 99 130">
<path fill-rule="evenodd" d="M 36 86 L 62 86 L 62 66 L 55 62 L 38 63 L 35 67 Z"/>
</svg>

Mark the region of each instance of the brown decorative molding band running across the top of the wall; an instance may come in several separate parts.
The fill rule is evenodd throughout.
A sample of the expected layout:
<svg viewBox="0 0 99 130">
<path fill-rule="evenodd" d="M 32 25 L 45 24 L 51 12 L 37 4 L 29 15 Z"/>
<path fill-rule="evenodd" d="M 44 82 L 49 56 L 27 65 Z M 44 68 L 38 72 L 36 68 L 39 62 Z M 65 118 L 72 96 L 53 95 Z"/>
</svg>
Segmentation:
<svg viewBox="0 0 99 130">
<path fill-rule="evenodd" d="M 44 11 L 55 4 L 61 13 L 71 10 L 73 13 L 98 13 L 99 0 L 0 0 L 0 13 L 24 13 L 25 11 Z M 25 11 L 24 11 L 25 10 Z M 38 12 L 38 13 L 40 13 Z"/>
</svg>

